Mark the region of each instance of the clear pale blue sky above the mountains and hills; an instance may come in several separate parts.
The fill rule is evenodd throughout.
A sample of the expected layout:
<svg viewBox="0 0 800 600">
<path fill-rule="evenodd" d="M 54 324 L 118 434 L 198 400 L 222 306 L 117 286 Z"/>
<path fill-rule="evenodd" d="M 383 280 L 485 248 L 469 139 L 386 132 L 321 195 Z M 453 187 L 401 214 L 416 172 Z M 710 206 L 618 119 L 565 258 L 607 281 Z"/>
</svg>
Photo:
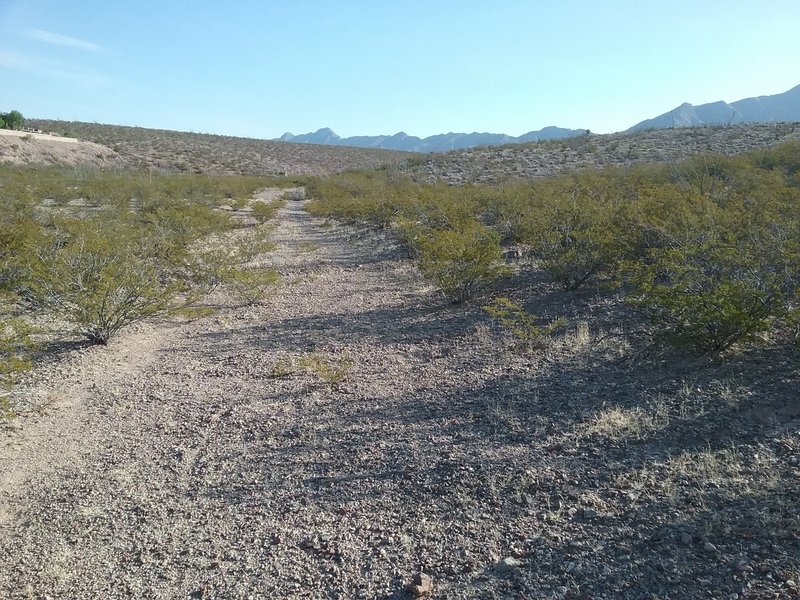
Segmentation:
<svg viewBox="0 0 800 600">
<path fill-rule="evenodd" d="M 619 131 L 800 84 L 800 0 L 0 0 L 0 111 L 249 137 Z"/>
</svg>

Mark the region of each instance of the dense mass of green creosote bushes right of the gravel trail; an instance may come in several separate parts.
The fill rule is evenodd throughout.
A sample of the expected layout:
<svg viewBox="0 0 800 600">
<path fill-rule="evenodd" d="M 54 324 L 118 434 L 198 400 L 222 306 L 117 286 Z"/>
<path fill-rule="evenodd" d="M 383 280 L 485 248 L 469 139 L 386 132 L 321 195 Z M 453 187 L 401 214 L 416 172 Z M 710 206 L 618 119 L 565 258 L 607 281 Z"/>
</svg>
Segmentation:
<svg viewBox="0 0 800 600">
<path fill-rule="evenodd" d="M 312 181 L 312 214 L 386 227 L 454 301 L 524 247 L 563 290 L 603 285 L 679 346 L 721 351 L 796 328 L 798 143 L 735 157 L 496 186 L 419 184 L 390 170 Z"/>
</svg>

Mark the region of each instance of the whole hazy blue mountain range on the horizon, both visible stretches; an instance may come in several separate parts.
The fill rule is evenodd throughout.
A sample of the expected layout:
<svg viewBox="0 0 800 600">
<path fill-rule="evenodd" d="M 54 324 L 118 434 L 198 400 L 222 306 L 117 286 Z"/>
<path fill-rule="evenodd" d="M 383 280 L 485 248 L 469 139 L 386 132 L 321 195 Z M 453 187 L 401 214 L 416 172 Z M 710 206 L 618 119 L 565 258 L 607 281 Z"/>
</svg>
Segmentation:
<svg viewBox="0 0 800 600">
<path fill-rule="evenodd" d="M 652 119 L 637 123 L 626 132 L 703 125 L 737 125 L 741 123 L 775 123 L 800 121 L 800 85 L 772 96 L 745 98 L 736 102 L 710 102 L 694 106 L 685 102 L 673 110 Z M 358 148 L 384 148 L 408 152 L 447 152 L 475 146 L 501 146 L 541 140 L 555 140 L 584 135 L 588 129 L 545 127 L 519 137 L 504 133 L 442 133 L 419 138 L 401 131 L 394 135 L 359 135 L 340 137 L 325 127 L 313 133 L 292 135 L 284 133 L 276 141 L 294 144 L 322 144 L 326 146 L 355 146 Z"/>
</svg>

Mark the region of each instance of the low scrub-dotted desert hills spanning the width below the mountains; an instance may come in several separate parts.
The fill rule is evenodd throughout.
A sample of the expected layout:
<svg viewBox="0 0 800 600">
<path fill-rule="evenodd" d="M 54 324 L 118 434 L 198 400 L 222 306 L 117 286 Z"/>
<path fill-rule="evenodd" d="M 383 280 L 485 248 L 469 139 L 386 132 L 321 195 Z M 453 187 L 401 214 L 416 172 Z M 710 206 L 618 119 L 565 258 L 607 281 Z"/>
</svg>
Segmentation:
<svg viewBox="0 0 800 600">
<path fill-rule="evenodd" d="M 420 181 L 442 180 L 450 184 L 492 184 L 551 177 L 575 169 L 664 163 L 703 152 L 734 155 L 800 138 L 798 123 L 756 123 L 606 135 L 584 133 L 562 140 L 482 146 L 422 155 L 379 148 L 286 144 L 92 123 L 42 120 L 31 123 L 109 149 L 99 154 L 90 149 L 85 155 L 76 155 L 83 156 L 85 163 L 96 166 L 103 166 L 113 158 L 114 165 L 170 172 L 325 175 L 393 165 Z M 24 149 L 22 143 L 13 143 L 18 147 L 16 150 L 10 144 L 5 147 L 6 160 Z M 98 158 L 96 154 L 102 157 Z M 59 162 L 59 159 L 45 156 L 42 161 Z M 73 163 L 67 161 L 67 164 Z"/>
</svg>

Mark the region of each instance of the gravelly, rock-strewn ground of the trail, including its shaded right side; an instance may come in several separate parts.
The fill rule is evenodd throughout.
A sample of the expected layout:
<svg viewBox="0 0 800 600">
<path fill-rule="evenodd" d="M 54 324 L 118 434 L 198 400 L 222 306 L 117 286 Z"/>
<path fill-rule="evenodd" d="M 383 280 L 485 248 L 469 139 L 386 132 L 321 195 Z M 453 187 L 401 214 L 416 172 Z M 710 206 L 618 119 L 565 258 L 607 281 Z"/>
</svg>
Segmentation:
<svg viewBox="0 0 800 600">
<path fill-rule="evenodd" d="M 677 356 L 534 273 L 504 285 L 568 324 L 521 352 L 301 204 L 263 305 L 222 295 L 22 386 L 0 597 L 800 597 L 796 351 Z"/>
</svg>

